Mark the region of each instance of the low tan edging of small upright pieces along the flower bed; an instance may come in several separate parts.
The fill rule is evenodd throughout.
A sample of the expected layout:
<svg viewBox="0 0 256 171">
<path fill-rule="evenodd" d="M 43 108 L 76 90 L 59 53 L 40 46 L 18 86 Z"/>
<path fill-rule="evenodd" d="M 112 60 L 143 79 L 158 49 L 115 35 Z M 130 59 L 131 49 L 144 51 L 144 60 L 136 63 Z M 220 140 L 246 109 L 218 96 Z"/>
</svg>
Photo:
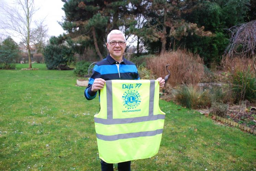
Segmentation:
<svg viewBox="0 0 256 171">
<path fill-rule="evenodd" d="M 250 127 L 247 127 L 247 126 L 245 126 L 243 124 L 239 124 L 239 123 L 237 123 L 237 122 L 235 122 L 233 120 L 230 120 L 228 118 L 222 118 L 222 117 L 214 115 L 214 114 L 212 114 L 212 116 L 215 118 L 214 120 L 221 121 L 222 123 L 227 123 L 230 126 L 238 127 L 241 131 L 246 131 L 248 133 L 256 135 L 256 129 L 251 129 Z"/>
</svg>

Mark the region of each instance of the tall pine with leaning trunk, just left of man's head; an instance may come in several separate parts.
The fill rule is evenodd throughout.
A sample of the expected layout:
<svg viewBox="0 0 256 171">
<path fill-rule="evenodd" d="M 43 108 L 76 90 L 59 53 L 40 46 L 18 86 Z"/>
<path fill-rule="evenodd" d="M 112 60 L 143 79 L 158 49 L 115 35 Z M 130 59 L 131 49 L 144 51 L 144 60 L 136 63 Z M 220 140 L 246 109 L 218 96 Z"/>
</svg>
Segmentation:
<svg viewBox="0 0 256 171">
<path fill-rule="evenodd" d="M 126 38 L 130 32 L 132 20 L 129 19 L 129 11 L 126 6 L 128 1 L 124 0 L 62 0 L 65 2 L 63 10 L 65 12 L 64 22 L 61 23 L 62 28 L 68 32 L 67 37 L 71 38 L 76 47 L 82 48 L 80 52 L 84 52 L 86 48 L 94 49 L 99 57 L 106 54 L 105 43 L 107 34 L 111 29 L 121 29 L 126 34 Z"/>
</svg>

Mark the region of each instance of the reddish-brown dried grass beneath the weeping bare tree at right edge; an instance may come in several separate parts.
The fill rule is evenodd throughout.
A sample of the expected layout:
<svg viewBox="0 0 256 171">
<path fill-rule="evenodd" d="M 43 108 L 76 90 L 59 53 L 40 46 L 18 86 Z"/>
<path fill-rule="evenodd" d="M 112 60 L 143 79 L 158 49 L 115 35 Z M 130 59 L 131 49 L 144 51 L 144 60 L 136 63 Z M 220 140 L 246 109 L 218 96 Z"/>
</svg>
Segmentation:
<svg viewBox="0 0 256 171">
<path fill-rule="evenodd" d="M 225 72 L 235 74 L 237 71 L 244 71 L 253 66 L 253 58 L 242 57 L 242 56 L 225 56 L 221 62 L 222 68 Z M 254 72 L 253 67 L 250 67 L 251 71 Z"/>
</svg>

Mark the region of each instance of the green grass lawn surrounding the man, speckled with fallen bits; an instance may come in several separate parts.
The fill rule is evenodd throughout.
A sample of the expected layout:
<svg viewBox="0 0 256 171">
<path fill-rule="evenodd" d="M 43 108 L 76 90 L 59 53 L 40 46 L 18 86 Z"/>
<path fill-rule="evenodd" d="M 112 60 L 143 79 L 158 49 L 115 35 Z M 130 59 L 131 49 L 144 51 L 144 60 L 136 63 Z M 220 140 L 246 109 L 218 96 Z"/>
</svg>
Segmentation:
<svg viewBox="0 0 256 171">
<path fill-rule="evenodd" d="M 73 71 L 0 70 L 0 170 L 100 170 L 93 115 Z M 159 153 L 133 170 L 255 170 L 256 136 L 160 100 Z M 115 170 L 117 170 L 117 165 Z"/>
</svg>

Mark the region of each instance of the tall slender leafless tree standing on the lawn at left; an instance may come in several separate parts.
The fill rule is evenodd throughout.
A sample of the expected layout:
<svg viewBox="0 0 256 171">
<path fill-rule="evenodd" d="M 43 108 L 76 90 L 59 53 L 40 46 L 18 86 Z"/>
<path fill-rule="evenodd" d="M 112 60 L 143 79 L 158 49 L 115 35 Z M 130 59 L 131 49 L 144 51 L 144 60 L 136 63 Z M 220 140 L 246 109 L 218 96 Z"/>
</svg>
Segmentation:
<svg viewBox="0 0 256 171">
<path fill-rule="evenodd" d="M 1 4 L 4 17 L 0 18 L 2 23 L 0 27 L 8 34 L 21 38 L 28 53 L 28 68 L 32 68 L 31 39 L 37 31 L 36 28 L 32 28 L 32 18 L 38 9 L 35 8 L 34 0 L 15 0 L 14 5 Z"/>
</svg>

